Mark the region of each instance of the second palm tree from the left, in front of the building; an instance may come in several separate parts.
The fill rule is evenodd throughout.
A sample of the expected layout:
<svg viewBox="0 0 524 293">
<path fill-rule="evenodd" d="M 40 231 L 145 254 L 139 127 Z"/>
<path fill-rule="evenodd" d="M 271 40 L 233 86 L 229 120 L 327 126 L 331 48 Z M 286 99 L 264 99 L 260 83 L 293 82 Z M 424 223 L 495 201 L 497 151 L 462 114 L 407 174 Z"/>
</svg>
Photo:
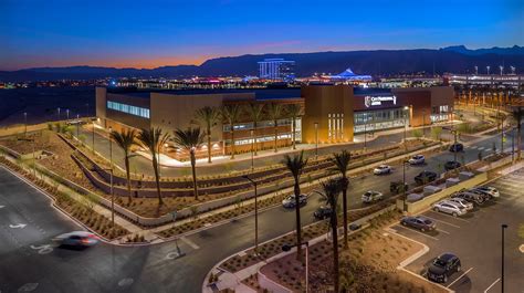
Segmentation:
<svg viewBox="0 0 524 293">
<path fill-rule="evenodd" d="M 158 174 L 158 158 L 160 147 L 169 139 L 169 134 L 164 134 L 161 128 L 142 129 L 137 136 L 142 147 L 151 155 L 153 170 L 155 171 L 155 181 L 157 184 L 158 205 L 164 205 L 160 192 L 160 175 Z"/>
</svg>

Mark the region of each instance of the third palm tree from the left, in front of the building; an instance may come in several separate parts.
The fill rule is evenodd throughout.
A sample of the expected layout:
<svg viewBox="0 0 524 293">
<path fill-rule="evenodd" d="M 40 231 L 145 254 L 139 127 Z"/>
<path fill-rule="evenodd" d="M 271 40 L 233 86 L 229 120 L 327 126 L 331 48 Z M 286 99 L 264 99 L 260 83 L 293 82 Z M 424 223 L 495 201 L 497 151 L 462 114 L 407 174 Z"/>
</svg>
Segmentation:
<svg viewBox="0 0 524 293">
<path fill-rule="evenodd" d="M 195 151 L 201 147 L 206 137 L 206 134 L 200 132 L 200 128 L 187 128 L 186 130 L 176 129 L 171 138 L 175 146 L 179 147 L 189 153 L 191 158 L 191 170 L 192 170 L 192 188 L 195 190 L 195 199 L 198 200 L 198 186 L 197 186 L 197 158 Z"/>
</svg>

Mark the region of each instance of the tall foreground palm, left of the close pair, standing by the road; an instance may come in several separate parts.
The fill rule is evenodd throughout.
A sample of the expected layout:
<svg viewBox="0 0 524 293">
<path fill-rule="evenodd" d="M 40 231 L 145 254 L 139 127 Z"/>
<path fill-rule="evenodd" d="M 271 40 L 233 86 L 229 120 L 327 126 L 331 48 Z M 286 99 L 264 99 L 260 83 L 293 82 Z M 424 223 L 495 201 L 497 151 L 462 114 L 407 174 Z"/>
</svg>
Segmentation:
<svg viewBox="0 0 524 293">
<path fill-rule="evenodd" d="M 301 151 L 300 155 L 294 155 L 291 157 L 290 155 L 284 156 L 284 160 L 282 164 L 285 165 L 287 170 L 290 170 L 293 179 L 295 180 L 294 185 L 294 195 L 295 195 L 295 217 L 296 217 L 296 259 L 302 261 L 302 224 L 301 224 L 301 205 L 300 205 L 300 196 L 301 196 L 301 175 L 304 170 L 304 167 L 307 165 L 307 159 L 304 158 L 304 150 Z"/>
</svg>

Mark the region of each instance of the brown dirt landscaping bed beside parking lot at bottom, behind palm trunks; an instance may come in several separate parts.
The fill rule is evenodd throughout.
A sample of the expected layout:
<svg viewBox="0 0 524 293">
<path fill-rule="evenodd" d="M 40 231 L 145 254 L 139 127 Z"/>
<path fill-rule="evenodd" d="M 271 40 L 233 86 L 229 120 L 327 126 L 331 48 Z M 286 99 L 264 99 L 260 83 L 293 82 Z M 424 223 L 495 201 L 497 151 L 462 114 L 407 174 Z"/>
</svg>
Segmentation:
<svg viewBox="0 0 524 293">
<path fill-rule="evenodd" d="M 446 292 L 441 287 L 399 271 L 400 262 L 422 247 L 382 228 L 397 221 L 398 212 L 385 213 L 371 227 L 349 237 L 349 249 L 339 242 L 340 289 L 347 292 Z M 303 292 L 305 266 L 292 253 L 261 268 L 261 273 L 293 292 Z M 310 247 L 310 292 L 333 290 L 333 244 L 322 241 Z M 251 281 L 251 283 L 253 283 Z M 256 287 L 256 284 L 252 286 Z"/>
</svg>

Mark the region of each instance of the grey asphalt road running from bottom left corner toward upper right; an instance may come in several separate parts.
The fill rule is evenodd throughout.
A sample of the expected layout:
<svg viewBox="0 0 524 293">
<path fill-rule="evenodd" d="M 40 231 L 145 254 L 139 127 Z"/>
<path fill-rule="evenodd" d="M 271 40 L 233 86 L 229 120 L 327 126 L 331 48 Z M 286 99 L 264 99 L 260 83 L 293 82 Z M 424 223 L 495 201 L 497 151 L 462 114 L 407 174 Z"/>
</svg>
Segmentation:
<svg viewBox="0 0 524 293">
<path fill-rule="evenodd" d="M 491 148 L 493 139 L 497 138 L 467 147 L 464 160 L 476 159 L 478 148 Z M 411 181 L 420 170 L 436 168 L 451 157 L 444 151 L 428 158 L 428 166 L 408 168 L 407 178 Z M 388 176 L 352 180 L 350 207 L 360 207 L 360 195 L 368 189 L 388 190 L 389 181 L 402 176 L 395 168 Z M 250 216 L 179 240 L 186 253 L 181 258 L 176 258 L 174 242 L 136 248 L 101 243 L 82 251 L 55 248 L 49 252 L 42 245 L 50 244 L 52 237 L 78 228 L 51 208 L 45 196 L 3 168 L 0 205 L 1 292 L 30 292 L 34 286 L 35 292 L 200 292 L 205 275 L 216 263 L 253 244 L 254 217 Z M 310 198 L 301 211 L 303 224 L 314 221 L 312 213 L 319 205 L 317 196 Z M 10 228 L 20 223 L 27 226 Z M 269 209 L 260 213 L 259 224 L 262 242 L 293 230 L 294 213 L 282 207 Z"/>
</svg>

